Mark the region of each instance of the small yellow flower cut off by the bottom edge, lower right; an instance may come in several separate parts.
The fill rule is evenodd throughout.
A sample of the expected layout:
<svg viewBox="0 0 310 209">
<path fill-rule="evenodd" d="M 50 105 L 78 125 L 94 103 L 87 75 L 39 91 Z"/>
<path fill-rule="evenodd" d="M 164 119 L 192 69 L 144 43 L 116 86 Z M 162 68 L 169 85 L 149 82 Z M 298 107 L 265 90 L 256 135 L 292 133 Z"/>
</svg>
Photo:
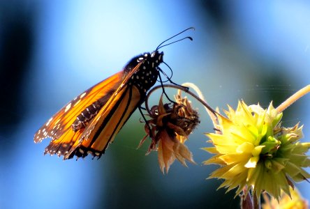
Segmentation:
<svg viewBox="0 0 310 209">
<path fill-rule="evenodd" d="M 300 192 L 297 188 L 292 189 L 290 187 L 290 194 L 285 194 L 281 192 L 281 197 L 279 201 L 276 199 L 265 199 L 265 203 L 262 205 L 263 209 L 307 209 L 308 202 L 302 198 Z"/>
</svg>

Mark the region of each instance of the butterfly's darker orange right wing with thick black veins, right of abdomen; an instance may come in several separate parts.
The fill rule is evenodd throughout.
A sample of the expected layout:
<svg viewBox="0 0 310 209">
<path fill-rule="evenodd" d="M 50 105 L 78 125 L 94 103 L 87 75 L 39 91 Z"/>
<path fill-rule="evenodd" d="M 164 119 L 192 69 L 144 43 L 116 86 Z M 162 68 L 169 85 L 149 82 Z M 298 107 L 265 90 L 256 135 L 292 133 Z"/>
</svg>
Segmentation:
<svg viewBox="0 0 310 209">
<path fill-rule="evenodd" d="M 77 151 L 100 157 L 139 105 L 138 88 L 128 86 L 121 89 L 117 96 L 111 99 L 110 105 L 105 105 L 84 130 L 80 149 Z M 65 157 L 72 157 L 71 152 L 74 151 L 75 148 L 72 148 Z"/>
</svg>

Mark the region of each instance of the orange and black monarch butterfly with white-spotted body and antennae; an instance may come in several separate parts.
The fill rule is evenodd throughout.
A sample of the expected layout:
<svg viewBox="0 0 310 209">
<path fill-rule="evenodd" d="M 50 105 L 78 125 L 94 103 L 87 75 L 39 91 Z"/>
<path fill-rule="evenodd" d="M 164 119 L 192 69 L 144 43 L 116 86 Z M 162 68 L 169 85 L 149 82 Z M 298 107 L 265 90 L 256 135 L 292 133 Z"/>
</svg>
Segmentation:
<svg viewBox="0 0 310 209">
<path fill-rule="evenodd" d="M 163 52 L 158 49 L 172 44 L 163 45 L 171 38 L 161 42 L 154 52 L 133 57 L 124 70 L 84 91 L 54 114 L 34 135 L 35 143 L 52 138 L 44 155 L 64 155 L 64 160 L 88 154 L 100 158 L 156 83 L 161 71 L 158 65 L 164 63 Z"/>
</svg>

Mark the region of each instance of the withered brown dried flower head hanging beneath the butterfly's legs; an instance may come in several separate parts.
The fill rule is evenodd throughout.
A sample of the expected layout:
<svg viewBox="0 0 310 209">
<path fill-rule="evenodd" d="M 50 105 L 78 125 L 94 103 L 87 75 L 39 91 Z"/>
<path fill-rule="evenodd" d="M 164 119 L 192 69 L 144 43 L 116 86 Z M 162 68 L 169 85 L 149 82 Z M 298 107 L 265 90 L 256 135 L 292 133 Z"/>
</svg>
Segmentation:
<svg viewBox="0 0 310 209">
<path fill-rule="evenodd" d="M 164 169 L 166 173 L 168 172 L 175 159 L 184 166 L 186 166 L 185 160 L 195 163 L 184 141 L 200 123 L 198 113 L 191 107 L 191 102 L 187 98 L 182 98 L 180 93 L 175 99 L 174 104 L 163 104 L 161 95 L 159 104 L 150 110 L 151 119 L 145 124 L 147 134 L 140 142 L 141 145 L 148 136 L 151 137 L 152 142 L 147 154 L 151 150 L 158 151 L 158 163 L 163 173 Z"/>
</svg>

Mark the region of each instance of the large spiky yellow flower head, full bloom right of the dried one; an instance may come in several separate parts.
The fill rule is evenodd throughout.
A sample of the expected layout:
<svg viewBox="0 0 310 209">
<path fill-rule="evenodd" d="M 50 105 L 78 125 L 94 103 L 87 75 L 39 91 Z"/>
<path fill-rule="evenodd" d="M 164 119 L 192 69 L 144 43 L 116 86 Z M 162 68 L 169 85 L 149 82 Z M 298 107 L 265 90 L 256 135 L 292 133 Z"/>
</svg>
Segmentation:
<svg viewBox="0 0 310 209">
<path fill-rule="evenodd" d="M 260 105 L 247 106 L 239 102 L 237 110 L 228 106 L 228 118 L 219 116 L 217 133 L 208 133 L 212 148 L 204 148 L 215 154 L 204 164 L 219 164 L 209 178 L 223 178 L 221 187 L 237 188 L 236 196 L 243 187 L 253 189 L 253 195 L 268 192 L 275 199 L 281 189 L 290 194 L 291 180 L 300 182 L 310 178 L 302 167 L 309 167 L 305 154 L 310 143 L 300 143 L 302 126 L 281 127 L 282 113 L 272 106 L 263 109 Z"/>
</svg>

